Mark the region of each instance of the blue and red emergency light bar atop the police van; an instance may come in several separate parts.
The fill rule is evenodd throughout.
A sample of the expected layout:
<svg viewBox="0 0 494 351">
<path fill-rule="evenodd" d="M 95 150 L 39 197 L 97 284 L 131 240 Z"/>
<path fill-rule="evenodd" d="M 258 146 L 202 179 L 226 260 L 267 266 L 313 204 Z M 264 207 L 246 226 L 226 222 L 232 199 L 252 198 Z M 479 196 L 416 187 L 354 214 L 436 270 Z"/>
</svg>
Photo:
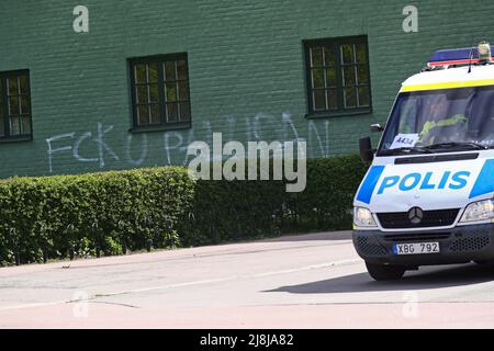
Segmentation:
<svg viewBox="0 0 494 351">
<path fill-rule="evenodd" d="M 441 67 L 451 65 L 469 65 L 480 63 L 492 63 L 491 46 L 486 42 L 482 42 L 478 47 L 453 48 L 446 50 L 437 50 L 430 56 L 428 67 Z"/>
</svg>

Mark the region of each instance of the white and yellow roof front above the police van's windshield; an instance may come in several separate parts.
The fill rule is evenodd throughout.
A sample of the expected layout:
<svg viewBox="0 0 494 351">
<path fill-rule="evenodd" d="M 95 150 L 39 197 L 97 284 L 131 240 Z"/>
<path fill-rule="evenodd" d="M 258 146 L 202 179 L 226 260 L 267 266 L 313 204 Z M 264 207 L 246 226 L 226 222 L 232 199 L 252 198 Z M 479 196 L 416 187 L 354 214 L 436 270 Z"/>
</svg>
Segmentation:
<svg viewBox="0 0 494 351">
<path fill-rule="evenodd" d="M 402 83 L 400 92 L 494 86 L 494 65 L 472 65 L 414 75 Z"/>
</svg>

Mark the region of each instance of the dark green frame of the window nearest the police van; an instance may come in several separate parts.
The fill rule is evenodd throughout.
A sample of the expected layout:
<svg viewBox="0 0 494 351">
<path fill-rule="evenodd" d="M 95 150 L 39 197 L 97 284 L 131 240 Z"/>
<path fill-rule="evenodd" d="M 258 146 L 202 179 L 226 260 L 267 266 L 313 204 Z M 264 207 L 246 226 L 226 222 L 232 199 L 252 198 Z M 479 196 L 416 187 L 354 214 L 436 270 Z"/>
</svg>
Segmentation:
<svg viewBox="0 0 494 351">
<path fill-rule="evenodd" d="M 340 47 L 345 44 L 364 44 L 366 45 L 366 66 L 367 66 L 367 84 L 361 84 L 362 87 L 368 87 L 368 98 L 369 98 L 369 105 L 366 106 L 356 106 L 356 107 L 345 107 L 345 95 L 344 90 L 344 73 L 343 73 L 343 67 L 345 65 L 353 65 L 358 66 L 357 63 L 353 61 L 353 64 L 343 64 L 341 63 L 341 52 Z M 313 99 L 313 92 L 314 90 L 318 90 L 317 88 L 313 88 L 312 82 L 312 59 L 311 59 L 311 48 L 314 47 L 328 47 L 333 50 L 335 54 L 335 76 L 336 76 L 336 86 L 335 88 L 328 88 L 327 81 L 326 81 L 326 69 L 327 66 L 323 64 L 323 72 L 325 77 L 325 86 L 322 88 L 327 94 L 327 91 L 329 89 L 336 89 L 336 95 L 337 95 L 337 109 L 326 109 L 326 110 L 315 110 L 314 109 L 314 99 Z M 306 101 L 307 101 L 307 114 L 305 117 L 307 118 L 317 118 L 317 117 L 330 117 L 330 116 L 347 116 L 347 115 L 357 115 L 357 114 L 369 114 L 372 113 L 372 83 L 371 83 L 371 77 L 370 77 L 370 60 L 369 60 L 369 42 L 367 35 L 357 35 L 357 36 L 341 36 L 341 37 L 333 37 L 333 38 L 321 38 L 321 39 L 307 39 L 303 41 L 303 49 L 304 49 L 304 68 L 305 68 L 305 87 L 306 87 Z M 355 52 L 353 52 L 355 55 Z M 353 56 L 355 59 L 355 56 Z M 357 78 L 355 78 L 357 79 Z M 355 86 L 357 87 L 357 86 Z M 358 89 L 358 88 L 356 88 Z M 328 98 L 326 98 L 328 99 Z M 358 99 L 358 98 L 357 98 Z M 326 100 L 327 101 L 327 100 Z"/>
</svg>

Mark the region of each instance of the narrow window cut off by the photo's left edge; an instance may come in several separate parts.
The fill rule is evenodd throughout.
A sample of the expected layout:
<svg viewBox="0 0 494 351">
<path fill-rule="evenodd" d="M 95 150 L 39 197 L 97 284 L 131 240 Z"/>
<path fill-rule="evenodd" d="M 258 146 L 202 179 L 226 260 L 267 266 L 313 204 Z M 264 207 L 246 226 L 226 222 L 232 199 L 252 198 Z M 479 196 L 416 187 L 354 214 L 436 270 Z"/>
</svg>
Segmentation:
<svg viewBox="0 0 494 351">
<path fill-rule="evenodd" d="M 31 140 L 30 72 L 0 72 L 0 141 Z"/>
</svg>

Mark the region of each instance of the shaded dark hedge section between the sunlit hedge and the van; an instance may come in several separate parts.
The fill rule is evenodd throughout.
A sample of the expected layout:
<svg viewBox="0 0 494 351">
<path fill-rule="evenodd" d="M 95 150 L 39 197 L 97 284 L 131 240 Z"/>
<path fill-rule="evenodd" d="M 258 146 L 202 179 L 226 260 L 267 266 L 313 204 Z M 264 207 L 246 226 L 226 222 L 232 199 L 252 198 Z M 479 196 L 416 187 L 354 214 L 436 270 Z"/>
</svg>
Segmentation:
<svg viewBox="0 0 494 351">
<path fill-rule="evenodd" d="M 350 229 L 355 192 L 367 171 L 358 156 L 307 159 L 301 193 L 285 181 L 198 181 L 188 228 L 203 242 L 261 238 L 282 233 Z"/>
</svg>

